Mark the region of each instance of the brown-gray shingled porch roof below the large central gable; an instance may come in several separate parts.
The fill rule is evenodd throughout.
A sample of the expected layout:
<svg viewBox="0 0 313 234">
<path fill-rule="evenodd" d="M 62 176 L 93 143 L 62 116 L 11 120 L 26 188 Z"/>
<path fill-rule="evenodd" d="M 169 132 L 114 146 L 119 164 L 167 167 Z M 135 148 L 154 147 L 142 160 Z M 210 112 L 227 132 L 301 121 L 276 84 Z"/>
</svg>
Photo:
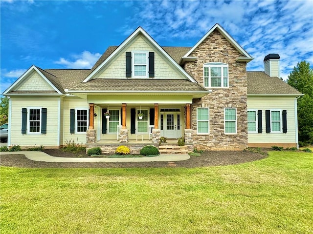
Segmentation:
<svg viewBox="0 0 313 234">
<path fill-rule="evenodd" d="M 71 90 L 117 91 L 117 92 L 207 92 L 198 83 L 186 79 L 91 79 Z"/>
</svg>

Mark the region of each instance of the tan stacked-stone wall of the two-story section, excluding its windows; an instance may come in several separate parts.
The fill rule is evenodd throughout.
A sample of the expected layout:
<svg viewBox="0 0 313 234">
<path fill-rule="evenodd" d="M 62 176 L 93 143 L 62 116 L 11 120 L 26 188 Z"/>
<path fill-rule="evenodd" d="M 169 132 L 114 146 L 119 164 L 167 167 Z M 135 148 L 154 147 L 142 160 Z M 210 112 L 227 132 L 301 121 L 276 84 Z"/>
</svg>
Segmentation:
<svg viewBox="0 0 313 234">
<path fill-rule="evenodd" d="M 228 89 L 214 89 L 191 105 L 191 128 L 194 147 L 199 150 L 243 150 L 248 144 L 247 135 L 247 84 L 246 62 L 237 62 L 240 53 L 217 31 L 211 33 L 190 55 L 198 57 L 188 61 L 184 69 L 203 86 L 203 64 L 228 64 Z M 210 134 L 197 135 L 197 107 L 210 111 Z M 224 134 L 224 108 L 237 108 L 237 134 Z"/>
</svg>

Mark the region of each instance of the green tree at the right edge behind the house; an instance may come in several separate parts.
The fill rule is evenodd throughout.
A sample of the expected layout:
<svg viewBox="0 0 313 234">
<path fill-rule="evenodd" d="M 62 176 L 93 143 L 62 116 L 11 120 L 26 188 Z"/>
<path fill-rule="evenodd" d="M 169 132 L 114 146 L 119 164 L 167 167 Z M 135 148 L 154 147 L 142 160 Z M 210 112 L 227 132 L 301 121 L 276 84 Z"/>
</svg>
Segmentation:
<svg viewBox="0 0 313 234">
<path fill-rule="evenodd" d="M 304 94 L 298 99 L 299 140 L 313 144 L 313 69 L 302 61 L 293 68 L 287 83 Z"/>
</svg>

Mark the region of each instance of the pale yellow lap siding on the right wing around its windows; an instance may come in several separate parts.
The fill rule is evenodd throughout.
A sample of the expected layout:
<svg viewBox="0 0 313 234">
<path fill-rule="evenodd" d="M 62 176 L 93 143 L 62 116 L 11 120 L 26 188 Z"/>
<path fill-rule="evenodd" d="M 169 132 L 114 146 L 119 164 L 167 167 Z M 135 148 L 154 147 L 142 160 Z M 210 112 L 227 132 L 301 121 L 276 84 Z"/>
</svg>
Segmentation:
<svg viewBox="0 0 313 234">
<path fill-rule="evenodd" d="M 295 98 L 248 97 L 247 108 L 262 110 L 262 133 L 248 133 L 248 143 L 296 143 Z M 287 110 L 287 133 L 266 133 L 266 110 Z M 282 121 L 282 120 L 281 120 Z"/>
</svg>

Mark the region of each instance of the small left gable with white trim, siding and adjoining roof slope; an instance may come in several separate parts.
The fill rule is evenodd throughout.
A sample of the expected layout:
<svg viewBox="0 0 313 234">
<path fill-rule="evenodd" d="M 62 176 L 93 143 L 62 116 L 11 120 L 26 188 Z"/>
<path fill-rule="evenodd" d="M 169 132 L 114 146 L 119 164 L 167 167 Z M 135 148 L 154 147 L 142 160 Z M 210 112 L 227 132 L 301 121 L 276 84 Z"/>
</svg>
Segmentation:
<svg viewBox="0 0 313 234">
<path fill-rule="evenodd" d="M 16 93 L 32 93 L 33 91 L 40 93 L 47 91 L 47 93 L 51 93 L 52 91 L 53 93 L 62 94 L 62 86 L 56 77 L 32 65 L 3 94 L 14 91 Z"/>
</svg>

